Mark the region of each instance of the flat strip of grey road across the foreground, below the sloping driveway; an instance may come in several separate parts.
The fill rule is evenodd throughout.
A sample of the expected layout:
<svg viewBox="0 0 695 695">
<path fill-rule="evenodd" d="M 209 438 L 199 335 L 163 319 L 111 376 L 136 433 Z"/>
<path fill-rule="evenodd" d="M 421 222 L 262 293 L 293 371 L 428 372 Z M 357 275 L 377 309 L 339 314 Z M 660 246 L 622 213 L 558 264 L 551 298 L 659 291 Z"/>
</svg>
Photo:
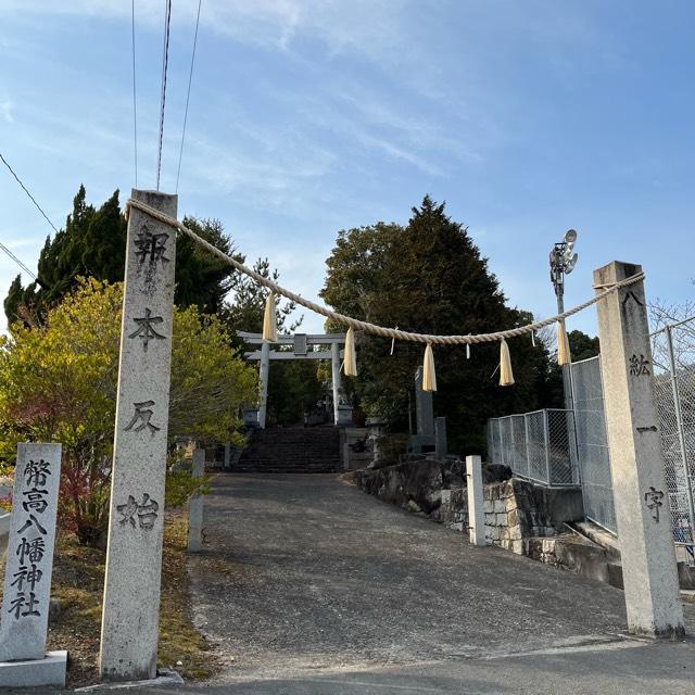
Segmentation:
<svg viewBox="0 0 695 695">
<path fill-rule="evenodd" d="M 452 659 L 305 673 L 140 695 L 692 695 L 693 644 L 628 644 L 567 654 Z M 127 691 L 130 693 L 131 691 Z"/>
</svg>

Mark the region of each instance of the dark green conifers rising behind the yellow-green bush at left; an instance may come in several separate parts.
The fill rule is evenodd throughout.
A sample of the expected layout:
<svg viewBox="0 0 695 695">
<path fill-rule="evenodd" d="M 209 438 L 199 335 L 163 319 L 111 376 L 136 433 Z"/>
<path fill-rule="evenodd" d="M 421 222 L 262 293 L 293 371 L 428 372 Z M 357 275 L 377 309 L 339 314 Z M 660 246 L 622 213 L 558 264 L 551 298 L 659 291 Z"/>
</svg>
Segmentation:
<svg viewBox="0 0 695 695">
<path fill-rule="evenodd" d="M 46 312 L 89 277 L 108 282 L 123 280 L 127 223 L 118 203 L 118 191 L 100 207 L 86 202 L 80 186 L 65 228 L 48 237 L 38 261 L 39 283 L 22 287 L 17 276 L 4 301 L 8 321 L 25 325 L 41 323 Z M 186 217 L 185 224 L 227 254 L 231 240 L 217 219 Z M 177 240 L 177 306 L 198 306 L 207 314 L 220 311 L 223 300 L 235 281 L 233 269 L 224 261 L 193 243 L 188 237 Z"/>
</svg>

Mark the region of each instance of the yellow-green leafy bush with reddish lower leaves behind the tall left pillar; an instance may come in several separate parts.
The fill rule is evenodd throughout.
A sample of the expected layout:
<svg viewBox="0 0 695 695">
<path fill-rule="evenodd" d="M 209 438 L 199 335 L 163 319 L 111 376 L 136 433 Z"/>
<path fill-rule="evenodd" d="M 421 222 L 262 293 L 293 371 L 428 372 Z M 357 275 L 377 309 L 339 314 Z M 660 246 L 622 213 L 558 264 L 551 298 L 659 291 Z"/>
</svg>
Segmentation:
<svg viewBox="0 0 695 695">
<path fill-rule="evenodd" d="M 0 457 L 20 441 L 63 444 L 63 520 L 80 542 L 106 528 L 121 334 L 121 283 L 80 280 L 41 326 L 17 324 L 0 344 Z M 195 306 L 176 309 L 168 434 L 229 441 L 255 370 L 229 350 L 226 328 Z"/>
</svg>

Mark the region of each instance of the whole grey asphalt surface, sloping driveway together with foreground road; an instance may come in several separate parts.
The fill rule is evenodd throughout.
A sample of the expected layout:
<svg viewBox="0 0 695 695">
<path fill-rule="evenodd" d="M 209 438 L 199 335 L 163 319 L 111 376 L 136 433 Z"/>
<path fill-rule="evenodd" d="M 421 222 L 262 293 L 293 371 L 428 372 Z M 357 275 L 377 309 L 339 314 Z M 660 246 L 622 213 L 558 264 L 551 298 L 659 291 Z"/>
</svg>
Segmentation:
<svg viewBox="0 0 695 695">
<path fill-rule="evenodd" d="M 695 693 L 695 642 L 626 639 L 621 591 L 477 548 L 333 476 L 220 475 L 205 528 L 193 615 L 224 668 L 125 692 Z"/>
</svg>

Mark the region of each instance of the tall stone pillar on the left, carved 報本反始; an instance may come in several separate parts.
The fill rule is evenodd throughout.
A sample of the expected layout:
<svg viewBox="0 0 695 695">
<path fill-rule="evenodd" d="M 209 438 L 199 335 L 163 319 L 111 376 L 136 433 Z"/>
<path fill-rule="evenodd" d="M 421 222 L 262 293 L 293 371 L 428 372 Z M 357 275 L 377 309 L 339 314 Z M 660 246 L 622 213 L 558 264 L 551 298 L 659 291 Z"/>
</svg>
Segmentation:
<svg viewBox="0 0 695 695">
<path fill-rule="evenodd" d="M 177 198 L 132 198 L 176 217 Z M 105 680 L 156 675 L 176 232 L 130 210 L 101 624 Z"/>
</svg>

